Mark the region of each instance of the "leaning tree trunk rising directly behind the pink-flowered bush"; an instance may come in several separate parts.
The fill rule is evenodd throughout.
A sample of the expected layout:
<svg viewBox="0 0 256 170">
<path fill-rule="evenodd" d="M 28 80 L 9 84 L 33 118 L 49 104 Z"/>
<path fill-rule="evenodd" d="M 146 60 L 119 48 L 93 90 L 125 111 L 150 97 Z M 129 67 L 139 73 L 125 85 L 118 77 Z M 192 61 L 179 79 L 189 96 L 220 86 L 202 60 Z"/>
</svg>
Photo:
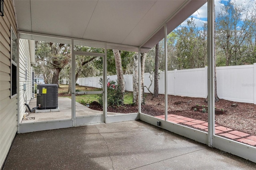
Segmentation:
<svg viewBox="0 0 256 170">
<path fill-rule="evenodd" d="M 123 69 L 122 69 L 122 61 L 121 61 L 121 55 L 118 49 L 113 49 L 114 57 L 115 57 L 115 63 L 116 63 L 116 75 L 117 75 L 117 85 L 120 87 L 122 98 L 121 100 L 124 101 L 124 76 L 123 76 Z"/>
</svg>

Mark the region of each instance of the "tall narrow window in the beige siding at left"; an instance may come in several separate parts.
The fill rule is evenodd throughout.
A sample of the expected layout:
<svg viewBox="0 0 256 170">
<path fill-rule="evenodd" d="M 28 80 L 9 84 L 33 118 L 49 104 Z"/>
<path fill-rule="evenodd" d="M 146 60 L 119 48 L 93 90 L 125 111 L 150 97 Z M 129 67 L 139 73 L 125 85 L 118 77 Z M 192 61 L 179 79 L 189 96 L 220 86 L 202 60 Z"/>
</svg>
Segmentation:
<svg viewBox="0 0 256 170">
<path fill-rule="evenodd" d="M 18 40 L 11 27 L 11 98 L 17 95 Z"/>
</svg>

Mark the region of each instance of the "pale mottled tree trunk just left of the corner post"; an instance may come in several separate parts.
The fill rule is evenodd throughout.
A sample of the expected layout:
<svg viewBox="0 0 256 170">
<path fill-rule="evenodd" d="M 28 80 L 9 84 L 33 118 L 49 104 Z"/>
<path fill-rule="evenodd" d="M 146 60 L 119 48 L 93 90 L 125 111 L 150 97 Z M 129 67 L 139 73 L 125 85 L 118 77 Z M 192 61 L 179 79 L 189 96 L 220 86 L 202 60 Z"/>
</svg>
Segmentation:
<svg viewBox="0 0 256 170">
<path fill-rule="evenodd" d="M 132 103 L 138 104 L 138 55 L 133 57 L 133 99 Z"/>
</svg>

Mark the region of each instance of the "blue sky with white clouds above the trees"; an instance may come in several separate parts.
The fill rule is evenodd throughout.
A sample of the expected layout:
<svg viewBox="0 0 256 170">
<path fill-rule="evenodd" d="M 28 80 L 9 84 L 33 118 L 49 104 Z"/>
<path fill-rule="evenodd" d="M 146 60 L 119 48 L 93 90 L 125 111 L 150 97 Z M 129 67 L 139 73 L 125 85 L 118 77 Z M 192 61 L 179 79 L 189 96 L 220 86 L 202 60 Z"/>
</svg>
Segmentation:
<svg viewBox="0 0 256 170">
<path fill-rule="evenodd" d="M 227 1 L 227 0 L 214 0 L 216 16 L 217 16 L 218 12 L 220 12 L 220 7 L 225 4 L 225 1 Z M 235 2 L 238 5 L 243 5 L 246 8 L 247 8 L 247 6 L 249 6 L 249 8 L 252 7 L 252 4 L 255 3 L 255 0 L 231 0 L 231 1 Z M 194 14 L 192 14 L 192 16 L 190 16 L 190 18 L 191 17 L 194 18 L 195 24 L 196 24 L 196 26 L 198 26 L 198 28 L 202 27 L 204 22 L 207 21 L 207 3 L 204 4 L 196 12 L 194 12 Z M 188 18 L 187 20 L 189 20 L 190 18 Z M 186 26 L 187 20 L 182 22 L 181 26 Z"/>
</svg>

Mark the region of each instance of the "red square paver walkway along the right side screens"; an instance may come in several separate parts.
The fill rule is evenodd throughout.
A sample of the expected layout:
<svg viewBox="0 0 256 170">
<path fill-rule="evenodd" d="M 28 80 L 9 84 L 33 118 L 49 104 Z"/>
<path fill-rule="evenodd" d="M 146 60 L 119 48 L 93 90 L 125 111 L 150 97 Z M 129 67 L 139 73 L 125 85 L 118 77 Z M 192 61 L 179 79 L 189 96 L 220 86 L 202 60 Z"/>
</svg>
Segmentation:
<svg viewBox="0 0 256 170">
<path fill-rule="evenodd" d="M 164 120 L 164 115 L 156 117 Z M 168 121 L 177 124 L 190 125 L 192 127 L 198 128 L 199 130 L 206 132 L 208 131 L 208 122 L 205 121 L 195 120 L 188 117 L 173 114 L 168 115 Z M 238 142 L 256 146 L 256 136 L 244 132 L 239 132 L 237 130 L 233 130 L 232 128 L 227 128 L 215 124 L 215 134 L 218 134 L 219 136 L 222 137 L 230 138 L 232 140 L 236 140 Z"/>
</svg>

